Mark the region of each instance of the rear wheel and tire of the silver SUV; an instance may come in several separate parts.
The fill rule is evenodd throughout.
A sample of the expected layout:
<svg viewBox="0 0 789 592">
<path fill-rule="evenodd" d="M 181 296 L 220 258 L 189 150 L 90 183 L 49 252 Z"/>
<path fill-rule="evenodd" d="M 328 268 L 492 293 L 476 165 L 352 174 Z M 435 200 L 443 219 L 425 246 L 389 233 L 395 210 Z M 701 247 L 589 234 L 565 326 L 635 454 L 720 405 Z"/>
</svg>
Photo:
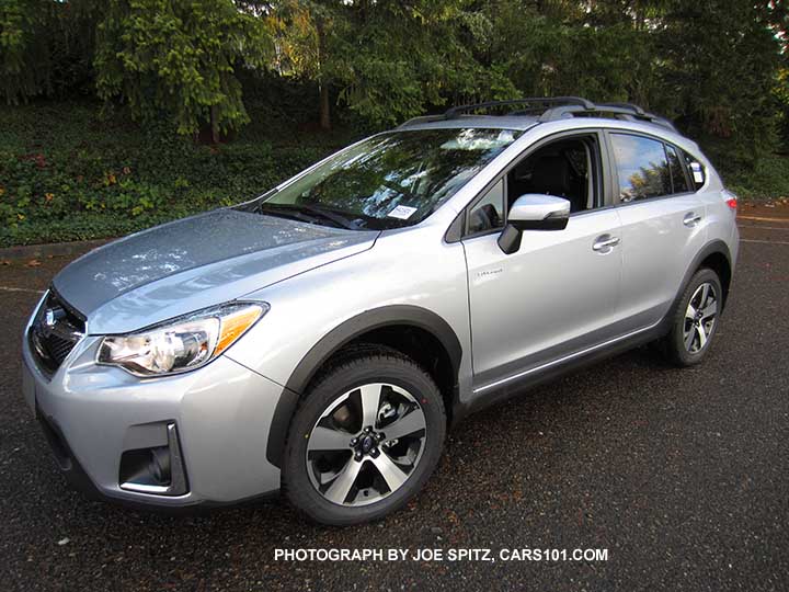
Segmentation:
<svg viewBox="0 0 789 592">
<path fill-rule="evenodd" d="M 722 296 L 716 272 L 701 267 L 694 274 L 672 314 L 671 331 L 660 342 L 668 362 L 686 367 L 705 358 L 718 330 Z"/>
</svg>

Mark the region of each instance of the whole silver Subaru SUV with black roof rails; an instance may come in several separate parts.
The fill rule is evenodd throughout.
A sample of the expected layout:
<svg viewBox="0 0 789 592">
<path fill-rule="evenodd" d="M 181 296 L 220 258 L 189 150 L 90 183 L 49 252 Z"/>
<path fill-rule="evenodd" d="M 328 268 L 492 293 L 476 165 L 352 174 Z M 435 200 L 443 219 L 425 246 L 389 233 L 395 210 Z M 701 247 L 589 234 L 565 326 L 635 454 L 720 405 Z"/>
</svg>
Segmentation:
<svg viewBox="0 0 789 592">
<path fill-rule="evenodd" d="M 25 330 L 25 397 L 91 496 L 282 489 L 323 523 L 377 519 L 471 411 L 647 342 L 700 362 L 735 213 L 634 105 L 455 107 L 71 263 Z"/>
</svg>

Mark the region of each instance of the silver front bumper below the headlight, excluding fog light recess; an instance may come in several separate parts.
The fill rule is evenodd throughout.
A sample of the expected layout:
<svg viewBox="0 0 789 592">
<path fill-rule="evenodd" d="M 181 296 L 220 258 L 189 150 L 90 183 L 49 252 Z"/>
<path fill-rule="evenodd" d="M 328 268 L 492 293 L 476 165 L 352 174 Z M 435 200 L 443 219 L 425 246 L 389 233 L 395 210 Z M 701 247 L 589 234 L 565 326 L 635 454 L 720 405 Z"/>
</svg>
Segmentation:
<svg viewBox="0 0 789 592">
<path fill-rule="evenodd" d="M 279 488 L 266 459 L 283 388 L 222 355 L 195 372 L 139 379 L 94 363 L 100 338 L 87 337 L 47 376 L 23 342 L 25 400 L 44 425 L 62 473 L 93 499 L 160 508 L 227 504 Z M 178 430 L 183 494 L 123 488 L 124 452 L 167 444 Z"/>
</svg>

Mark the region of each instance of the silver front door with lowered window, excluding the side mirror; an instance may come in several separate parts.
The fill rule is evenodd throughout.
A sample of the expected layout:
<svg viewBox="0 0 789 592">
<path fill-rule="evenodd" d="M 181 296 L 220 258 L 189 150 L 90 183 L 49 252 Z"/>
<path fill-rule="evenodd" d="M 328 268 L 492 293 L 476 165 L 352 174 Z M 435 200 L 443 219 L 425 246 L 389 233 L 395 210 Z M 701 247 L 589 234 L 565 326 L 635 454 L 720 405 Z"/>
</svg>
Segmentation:
<svg viewBox="0 0 789 592">
<path fill-rule="evenodd" d="M 562 138 L 527 156 L 469 208 L 466 251 L 474 390 L 536 372 L 617 335 L 622 259 L 616 208 L 601 207 L 597 135 Z M 517 194 L 568 198 L 563 230 L 498 244 Z"/>
</svg>

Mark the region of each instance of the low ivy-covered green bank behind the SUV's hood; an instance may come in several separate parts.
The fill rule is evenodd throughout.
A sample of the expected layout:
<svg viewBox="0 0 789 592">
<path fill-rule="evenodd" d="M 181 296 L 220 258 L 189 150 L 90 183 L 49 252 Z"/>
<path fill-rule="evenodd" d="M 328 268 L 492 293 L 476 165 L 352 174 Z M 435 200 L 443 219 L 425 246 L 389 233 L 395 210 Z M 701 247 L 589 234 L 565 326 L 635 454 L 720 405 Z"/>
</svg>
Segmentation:
<svg viewBox="0 0 789 592">
<path fill-rule="evenodd" d="M 319 140 L 256 133 L 215 148 L 102 117 L 90 104 L 7 109 L 0 246 L 119 236 L 238 203 L 338 147 Z"/>
</svg>

